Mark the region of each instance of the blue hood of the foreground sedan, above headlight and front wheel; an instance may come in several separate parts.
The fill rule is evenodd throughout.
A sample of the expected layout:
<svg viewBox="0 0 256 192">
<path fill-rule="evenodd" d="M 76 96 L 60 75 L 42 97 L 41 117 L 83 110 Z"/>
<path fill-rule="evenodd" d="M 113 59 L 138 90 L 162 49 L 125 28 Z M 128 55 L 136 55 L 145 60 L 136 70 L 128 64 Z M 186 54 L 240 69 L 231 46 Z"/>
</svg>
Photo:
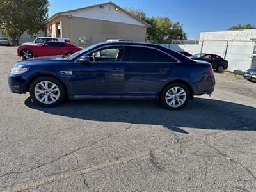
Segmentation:
<svg viewBox="0 0 256 192">
<path fill-rule="evenodd" d="M 43 61 L 43 62 L 42 62 Z M 42 63 L 53 63 L 53 62 L 58 62 L 58 61 L 63 61 L 63 58 L 61 55 L 59 56 L 45 56 L 45 57 L 39 57 L 39 58 L 31 58 L 28 60 L 21 60 L 15 63 L 13 67 L 17 66 L 24 66 L 24 65 L 37 65 L 37 64 L 42 64 Z"/>
</svg>

